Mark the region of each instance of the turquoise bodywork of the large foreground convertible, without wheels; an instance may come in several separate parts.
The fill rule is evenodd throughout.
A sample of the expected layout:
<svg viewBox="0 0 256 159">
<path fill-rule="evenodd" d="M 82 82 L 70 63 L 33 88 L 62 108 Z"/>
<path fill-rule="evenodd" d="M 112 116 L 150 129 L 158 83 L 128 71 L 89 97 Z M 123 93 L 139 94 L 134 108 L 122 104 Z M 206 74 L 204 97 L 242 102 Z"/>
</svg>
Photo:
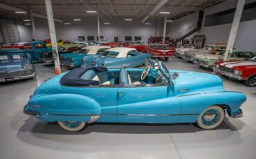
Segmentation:
<svg viewBox="0 0 256 159">
<path fill-rule="evenodd" d="M 127 71 L 134 81 L 143 69 Z M 113 77 L 119 72 L 109 69 Z M 100 115 L 96 122 L 194 123 L 208 106 L 223 106 L 232 116 L 246 100 L 243 93 L 226 91 L 219 77 L 207 73 L 179 71 L 171 84 L 139 86 L 63 86 L 60 79 L 65 74 L 39 86 L 24 110 L 46 122 L 89 122 L 91 115 Z"/>
</svg>

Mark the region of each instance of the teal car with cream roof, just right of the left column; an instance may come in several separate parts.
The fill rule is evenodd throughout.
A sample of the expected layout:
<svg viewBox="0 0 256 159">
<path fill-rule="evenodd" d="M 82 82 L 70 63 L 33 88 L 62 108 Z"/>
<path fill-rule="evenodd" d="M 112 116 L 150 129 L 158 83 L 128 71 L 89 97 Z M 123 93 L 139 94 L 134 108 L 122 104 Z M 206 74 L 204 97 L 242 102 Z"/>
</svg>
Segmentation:
<svg viewBox="0 0 256 159">
<path fill-rule="evenodd" d="M 84 57 L 91 58 L 99 56 L 104 50 L 109 48 L 110 46 L 87 46 L 73 53 L 65 53 L 60 56 L 60 64 L 71 68 L 78 67 L 84 63 L 84 60 L 86 59 Z"/>
</svg>

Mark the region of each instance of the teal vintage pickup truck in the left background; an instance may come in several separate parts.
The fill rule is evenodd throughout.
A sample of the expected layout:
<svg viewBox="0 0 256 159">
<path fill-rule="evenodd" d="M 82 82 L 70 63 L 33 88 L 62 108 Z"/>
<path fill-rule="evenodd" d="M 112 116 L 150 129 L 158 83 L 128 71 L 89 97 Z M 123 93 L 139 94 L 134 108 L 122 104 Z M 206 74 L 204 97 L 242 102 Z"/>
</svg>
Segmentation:
<svg viewBox="0 0 256 159">
<path fill-rule="evenodd" d="M 46 44 L 43 41 L 32 41 L 31 43 L 32 48 L 24 48 L 24 49 L 18 49 L 18 48 L 3 48 L 0 49 L 1 52 L 24 52 L 29 53 L 30 57 L 33 59 L 34 62 L 39 61 L 40 55 L 43 53 L 51 53 L 52 48 L 46 47 Z"/>
</svg>

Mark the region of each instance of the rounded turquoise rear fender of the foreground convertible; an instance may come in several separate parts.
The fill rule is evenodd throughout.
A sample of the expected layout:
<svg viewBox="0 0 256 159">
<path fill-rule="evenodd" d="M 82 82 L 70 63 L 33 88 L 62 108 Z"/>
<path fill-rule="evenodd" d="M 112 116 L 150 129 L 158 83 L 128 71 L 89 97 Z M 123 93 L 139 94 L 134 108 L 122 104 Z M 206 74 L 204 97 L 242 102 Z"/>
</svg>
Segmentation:
<svg viewBox="0 0 256 159">
<path fill-rule="evenodd" d="M 39 119 L 46 122 L 83 121 L 100 115 L 100 104 L 84 95 L 54 94 L 33 97 L 28 101 L 28 111 L 39 113 Z"/>
</svg>

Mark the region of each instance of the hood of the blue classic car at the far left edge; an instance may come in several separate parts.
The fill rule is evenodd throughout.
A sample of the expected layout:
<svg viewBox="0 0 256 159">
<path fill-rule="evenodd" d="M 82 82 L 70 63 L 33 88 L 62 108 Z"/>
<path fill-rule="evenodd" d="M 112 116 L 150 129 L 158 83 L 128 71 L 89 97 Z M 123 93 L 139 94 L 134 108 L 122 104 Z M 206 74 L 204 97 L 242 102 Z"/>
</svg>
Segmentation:
<svg viewBox="0 0 256 159">
<path fill-rule="evenodd" d="M 28 59 L 8 59 L 0 61 L 0 71 L 21 70 L 23 64 L 30 64 Z"/>
</svg>

